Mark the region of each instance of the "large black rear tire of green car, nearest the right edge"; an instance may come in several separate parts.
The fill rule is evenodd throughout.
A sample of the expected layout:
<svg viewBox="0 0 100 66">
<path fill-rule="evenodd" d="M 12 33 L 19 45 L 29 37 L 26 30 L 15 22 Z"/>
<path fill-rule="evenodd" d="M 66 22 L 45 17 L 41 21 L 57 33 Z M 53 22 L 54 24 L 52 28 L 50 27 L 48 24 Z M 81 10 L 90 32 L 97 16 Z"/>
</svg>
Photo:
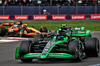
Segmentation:
<svg viewBox="0 0 100 66">
<path fill-rule="evenodd" d="M 97 38 L 87 38 L 85 40 L 85 53 L 89 57 L 99 56 L 99 40 Z"/>
</svg>

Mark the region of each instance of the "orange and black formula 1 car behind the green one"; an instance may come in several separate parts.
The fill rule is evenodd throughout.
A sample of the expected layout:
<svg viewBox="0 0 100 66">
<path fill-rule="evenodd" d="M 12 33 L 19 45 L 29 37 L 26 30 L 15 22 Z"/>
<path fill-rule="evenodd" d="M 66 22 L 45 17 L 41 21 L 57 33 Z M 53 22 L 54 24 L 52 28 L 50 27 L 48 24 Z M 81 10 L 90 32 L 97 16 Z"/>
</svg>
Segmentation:
<svg viewBox="0 0 100 66">
<path fill-rule="evenodd" d="M 3 26 L 10 26 L 10 28 L 5 29 Z M 15 23 L 1 23 L 0 24 L 0 36 L 20 36 L 20 37 L 33 37 L 37 34 L 47 35 L 47 28 L 41 27 L 40 31 L 33 28 L 28 27 L 28 24 L 22 24 L 21 21 Z"/>
</svg>

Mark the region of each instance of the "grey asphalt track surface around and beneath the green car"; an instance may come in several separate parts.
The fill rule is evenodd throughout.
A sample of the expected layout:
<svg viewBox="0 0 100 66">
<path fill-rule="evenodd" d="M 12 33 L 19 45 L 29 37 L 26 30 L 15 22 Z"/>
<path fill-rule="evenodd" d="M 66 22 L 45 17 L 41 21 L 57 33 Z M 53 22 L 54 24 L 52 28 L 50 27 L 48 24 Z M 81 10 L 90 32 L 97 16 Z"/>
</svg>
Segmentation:
<svg viewBox="0 0 100 66">
<path fill-rule="evenodd" d="M 97 37 L 100 41 L 100 31 L 91 32 L 93 37 Z M 16 47 L 20 45 L 21 41 L 0 43 L 0 66 L 91 66 L 100 64 L 99 57 L 89 57 L 83 59 L 81 62 L 71 62 L 70 60 L 38 60 L 33 59 L 31 63 L 22 63 L 15 59 Z"/>
</svg>

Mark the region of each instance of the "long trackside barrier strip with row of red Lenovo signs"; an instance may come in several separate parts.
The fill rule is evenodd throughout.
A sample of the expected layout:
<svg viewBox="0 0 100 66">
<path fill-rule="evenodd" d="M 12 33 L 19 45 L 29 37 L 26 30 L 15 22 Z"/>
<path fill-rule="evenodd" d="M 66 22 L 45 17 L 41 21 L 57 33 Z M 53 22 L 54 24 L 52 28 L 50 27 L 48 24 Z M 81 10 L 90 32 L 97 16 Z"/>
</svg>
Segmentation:
<svg viewBox="0 0 100 66">
<path fill-rule="evenodd" d="M 100 20 L 100 14 L 0 15 L 0 20 Z"/>
</svg>

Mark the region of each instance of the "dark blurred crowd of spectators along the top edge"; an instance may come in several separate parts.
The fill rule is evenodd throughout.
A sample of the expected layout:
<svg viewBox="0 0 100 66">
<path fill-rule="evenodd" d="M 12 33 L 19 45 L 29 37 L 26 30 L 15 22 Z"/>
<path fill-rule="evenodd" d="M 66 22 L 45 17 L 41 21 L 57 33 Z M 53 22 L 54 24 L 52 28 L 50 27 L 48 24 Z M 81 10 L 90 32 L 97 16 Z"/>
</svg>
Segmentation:
<svg viewBox="0 0 100 66">
<path fill-rule="evenodd" d="M 41 1 L 41 6 L 94 6 L 100 5 L 100 0 L 0 0 L 0 5 L 7 6 L 38 6 Z"/>
</svg>

